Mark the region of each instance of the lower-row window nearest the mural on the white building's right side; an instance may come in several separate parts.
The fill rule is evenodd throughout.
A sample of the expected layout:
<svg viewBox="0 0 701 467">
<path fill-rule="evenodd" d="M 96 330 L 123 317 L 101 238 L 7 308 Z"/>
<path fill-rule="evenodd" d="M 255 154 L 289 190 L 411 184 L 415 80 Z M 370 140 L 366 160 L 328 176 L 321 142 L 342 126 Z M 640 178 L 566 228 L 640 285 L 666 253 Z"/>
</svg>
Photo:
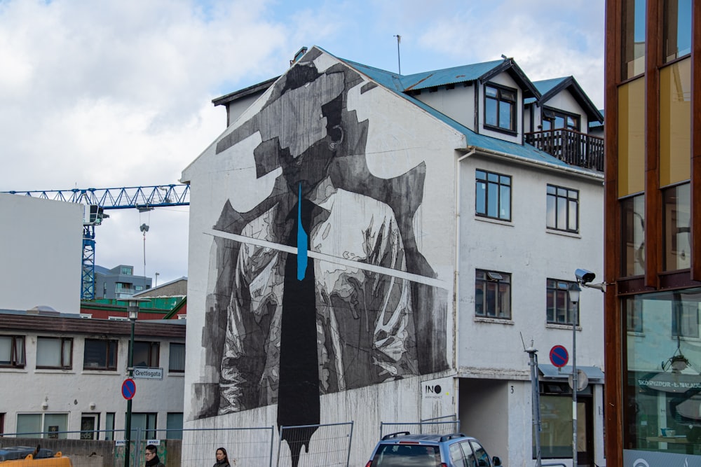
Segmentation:
<svg viewBox="0 0 701 467">
<path fill-rule="evenodd" d="M 475 315 L 511 319 L 511 274 L 475 271 Z"/>
</svg>

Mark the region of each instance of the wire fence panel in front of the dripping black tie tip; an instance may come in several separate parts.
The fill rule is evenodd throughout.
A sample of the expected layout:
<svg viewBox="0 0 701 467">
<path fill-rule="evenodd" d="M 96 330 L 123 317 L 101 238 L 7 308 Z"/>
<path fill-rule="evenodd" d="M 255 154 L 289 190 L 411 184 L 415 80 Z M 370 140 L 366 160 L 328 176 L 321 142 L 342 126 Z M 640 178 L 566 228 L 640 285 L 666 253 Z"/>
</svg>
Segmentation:
<svg viewBox="0 0 701 467">
<path fill-rule="evenodd" d="M 348 467 L 352 441 L 353 421 L 326 425 L 280 426 L 278 459 L 275 465 Z"/>
</svg>

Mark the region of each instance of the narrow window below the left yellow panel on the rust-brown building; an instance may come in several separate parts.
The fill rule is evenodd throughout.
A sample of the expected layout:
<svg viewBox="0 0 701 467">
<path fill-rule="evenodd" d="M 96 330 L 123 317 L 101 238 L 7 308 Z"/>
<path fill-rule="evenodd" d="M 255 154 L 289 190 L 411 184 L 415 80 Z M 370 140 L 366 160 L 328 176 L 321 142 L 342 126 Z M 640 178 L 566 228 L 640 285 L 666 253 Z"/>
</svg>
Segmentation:
<svg viewBox="0 0 701 467">
<path fill-rule="evenodd" d="M 645 273 L 645 198 L 629 197 L 620 202 L 622 275 L 639 276 Z"/>
</svg>

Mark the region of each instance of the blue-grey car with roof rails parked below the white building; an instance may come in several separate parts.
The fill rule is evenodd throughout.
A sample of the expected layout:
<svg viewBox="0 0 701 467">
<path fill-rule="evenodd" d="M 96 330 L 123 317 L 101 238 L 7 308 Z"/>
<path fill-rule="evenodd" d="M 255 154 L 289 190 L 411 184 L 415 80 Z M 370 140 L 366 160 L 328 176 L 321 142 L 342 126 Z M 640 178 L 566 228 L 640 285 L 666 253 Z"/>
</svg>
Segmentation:
<svg viewBox="0 0 701 467">
<path fill-rule="evenodd" d="M 463 433 L 412 435 L 409 431 L 383 436 L 365 467 L 497 467 L 475 438 Z"/>
</svg>

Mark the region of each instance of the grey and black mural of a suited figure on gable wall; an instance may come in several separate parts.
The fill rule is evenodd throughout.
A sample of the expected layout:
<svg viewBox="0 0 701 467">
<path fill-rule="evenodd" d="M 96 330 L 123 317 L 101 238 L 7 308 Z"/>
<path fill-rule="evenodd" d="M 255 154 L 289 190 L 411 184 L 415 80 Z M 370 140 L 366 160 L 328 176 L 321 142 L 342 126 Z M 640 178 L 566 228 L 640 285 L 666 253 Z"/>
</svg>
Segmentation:
<svg viewBox="0 0 701 467">
<path fill-rule="evenodd" d="M 250 211 L 226 202 L 212 230 L 203 347 L 220 374 L 196 384 L 199 418 L 277 404 L 278 426 L 319 424 L 325 393 L 447 368 L 447 291 L 414 234 L 426 165 L 370 173 L 372 122 L 347 104 L 350 90 L 376 85 L 341 63 L 319 71 L 318 55 L 217 143 L 216 157 L 231 157 L 259 134 L 257 178 L 281 171 Z M 294 465 L 312 434 L 283 434 Z"/>
</svg>

